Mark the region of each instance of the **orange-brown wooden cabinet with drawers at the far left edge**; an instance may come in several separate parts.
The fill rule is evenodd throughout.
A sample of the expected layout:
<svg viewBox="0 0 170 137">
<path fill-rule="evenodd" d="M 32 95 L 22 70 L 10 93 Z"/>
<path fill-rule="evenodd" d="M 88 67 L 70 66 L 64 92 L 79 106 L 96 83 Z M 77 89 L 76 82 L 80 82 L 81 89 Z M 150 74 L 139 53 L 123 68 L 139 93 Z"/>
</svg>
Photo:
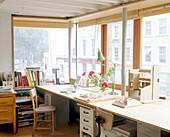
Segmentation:
<svg viewBox="0 0 170 137">
<path fill-rule="evenodd" d="M 0 124 L 13 123 L 13 133 L 16 133 L 16 103 L 15 92 L 0 93 Z"/>
</svg>

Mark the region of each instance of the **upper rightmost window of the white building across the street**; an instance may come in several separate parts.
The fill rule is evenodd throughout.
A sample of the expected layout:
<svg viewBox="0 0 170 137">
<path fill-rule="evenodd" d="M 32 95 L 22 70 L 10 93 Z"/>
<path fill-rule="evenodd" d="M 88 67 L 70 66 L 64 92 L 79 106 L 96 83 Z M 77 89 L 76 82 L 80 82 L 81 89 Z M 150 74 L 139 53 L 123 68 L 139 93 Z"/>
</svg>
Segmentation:
<svg viewBox="0 0 170 137">
<path fill-rule="evenodd" d="M 159 34 L 166 34 L 167 24 L 166 18 L 159 19 Z"/>
</svg>

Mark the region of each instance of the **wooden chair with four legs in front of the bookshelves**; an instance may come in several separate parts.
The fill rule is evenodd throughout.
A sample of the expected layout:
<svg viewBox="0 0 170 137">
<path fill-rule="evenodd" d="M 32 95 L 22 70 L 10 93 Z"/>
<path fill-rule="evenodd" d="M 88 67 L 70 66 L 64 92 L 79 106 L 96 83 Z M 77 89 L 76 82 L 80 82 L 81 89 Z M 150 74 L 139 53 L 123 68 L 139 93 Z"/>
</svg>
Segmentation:
<svg viewBox="0 0 170 137">
<path fill-rule="evenodd" d="M 37 100 L 37 94 L 36 94 L 36 89 L 32 89 L 30 90 L 30 95 L 31 95 L 31 99 L 32 99 L 32 105 L 33 105 L 33 112 L 34 112 L 34 126 L 33 126 L 33 134 L 32 136 L 34 136 L 35 131 L 38 129 L 52 129 L 53 135 L 54 135 L 54 129 L 56 126 L 56 118 L 55 118 L 55 110 L 56 107 L 55 106 L 45 106 L 45 107 L 38 107 L 38 100 Z M 38 114 L 42 114 L 42 113 L 52 113 L 52 120 L 38 120 Z M 47 127 L 37 127 L 37 123 L 38 122 L 49 122 L 51 121 L 52 123 L 52 128 L 47 128 Z"/>
</svg>

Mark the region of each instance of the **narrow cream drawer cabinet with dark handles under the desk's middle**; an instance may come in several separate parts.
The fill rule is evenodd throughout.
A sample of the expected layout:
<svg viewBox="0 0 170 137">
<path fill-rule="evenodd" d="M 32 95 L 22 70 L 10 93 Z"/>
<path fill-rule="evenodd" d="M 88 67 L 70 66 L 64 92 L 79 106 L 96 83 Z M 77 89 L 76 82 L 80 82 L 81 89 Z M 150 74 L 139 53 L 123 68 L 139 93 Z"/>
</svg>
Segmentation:
<svg viewBox="0 0 170 137">
<path fill-rule="evenodd" d="M 93 108 L 80 105 L 80 137 L 95 137 L 96 123 L 95 110 Z"/>
</svg>

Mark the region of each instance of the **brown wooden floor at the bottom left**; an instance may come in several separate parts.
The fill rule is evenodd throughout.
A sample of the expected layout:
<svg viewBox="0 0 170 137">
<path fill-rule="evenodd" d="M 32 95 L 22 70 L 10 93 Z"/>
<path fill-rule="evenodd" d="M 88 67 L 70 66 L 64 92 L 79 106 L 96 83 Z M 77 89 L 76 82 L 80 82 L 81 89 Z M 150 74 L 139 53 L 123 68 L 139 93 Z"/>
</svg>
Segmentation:
<svg viewBox="0 0 170 137">
<path fill-rule="evenodd" d="M 57 125 L 55 130 L 55 137 L 79 137 L 78 124 L 74 125 Z M 0 137 L 32 137 L 32 126 L 22 127 L 18 129 L 18 133 L 14 135 L 11 130 L 6 127 L 0 127 Z M 36 132 L 35 137 L 53 137 L 52 132 L 39 130 Z"/>
</svg>

